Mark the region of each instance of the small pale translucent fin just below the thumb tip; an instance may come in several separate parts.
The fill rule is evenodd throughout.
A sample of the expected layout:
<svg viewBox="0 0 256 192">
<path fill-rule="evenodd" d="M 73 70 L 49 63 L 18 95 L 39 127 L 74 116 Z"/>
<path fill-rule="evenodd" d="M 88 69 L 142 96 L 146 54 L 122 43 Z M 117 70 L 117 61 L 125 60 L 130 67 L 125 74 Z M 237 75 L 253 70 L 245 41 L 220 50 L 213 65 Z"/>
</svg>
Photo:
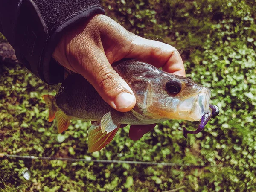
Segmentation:
<svg viewBox="0 0 256 192">
<path fill-rule="evenodd" d="M 104 133 L 105 131 L 107 133 L 114 131 L 119 126 L 122 120 L 123 114 L 124 113 L 116 111 L 114 109 L 106 113 L 102 117 L 100 122 L 102 133 Z"/>
</svg>

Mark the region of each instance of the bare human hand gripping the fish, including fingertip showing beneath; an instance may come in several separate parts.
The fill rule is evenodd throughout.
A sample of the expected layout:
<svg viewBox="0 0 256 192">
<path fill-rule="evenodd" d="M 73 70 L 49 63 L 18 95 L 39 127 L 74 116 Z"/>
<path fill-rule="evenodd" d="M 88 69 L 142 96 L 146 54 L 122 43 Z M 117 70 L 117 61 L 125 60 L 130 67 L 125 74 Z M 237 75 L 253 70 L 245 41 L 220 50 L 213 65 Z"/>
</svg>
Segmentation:
<svg viewBox="0 0 256 192">
<path fill-rule="evenodd" d="M 172 46 L 128 32 L 105 15 L 94 15 L 63 35 L 53 58 L 67 69 L 86 78 L 112 108 L 127 112 L 135 103 L 128 84 L 111 64 L 134 58 L 176 75 L 185 76 L 179 52 Z M 129 137 L 139 140 L 154 125 L 131 125 Z"/>
</svg>

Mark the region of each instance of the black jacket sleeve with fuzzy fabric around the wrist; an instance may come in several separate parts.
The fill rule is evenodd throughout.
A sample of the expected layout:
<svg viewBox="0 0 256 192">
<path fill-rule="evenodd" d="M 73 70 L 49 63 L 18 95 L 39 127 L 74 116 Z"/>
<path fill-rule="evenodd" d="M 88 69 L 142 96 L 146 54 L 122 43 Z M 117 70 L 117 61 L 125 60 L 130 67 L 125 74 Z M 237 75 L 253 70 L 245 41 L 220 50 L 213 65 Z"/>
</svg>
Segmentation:
<svg viewBox="0 0 256 192">
<path fill-rule="evenodd" d="M 64 79 L 64 69 L 52 53 L 67 28 L 95 13 L 104 14 L 98 0 L 3 0 L 0 32 L 17 59 L 48 84 Z"/>
</svg>

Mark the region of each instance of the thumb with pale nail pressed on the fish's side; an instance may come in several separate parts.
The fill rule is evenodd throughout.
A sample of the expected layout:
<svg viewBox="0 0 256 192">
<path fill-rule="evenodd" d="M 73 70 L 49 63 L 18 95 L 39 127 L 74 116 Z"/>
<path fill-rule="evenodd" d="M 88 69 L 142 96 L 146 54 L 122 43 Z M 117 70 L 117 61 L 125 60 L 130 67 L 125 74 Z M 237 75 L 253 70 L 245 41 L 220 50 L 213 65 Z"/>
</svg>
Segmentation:
<svg viewBox="0 0 256 192">
<path fill-rule="evenodd" d="M 96 59 L 97 58 L 97 59 Z M 108 62 L 105 52 L 97 52 L 88 61 L 84 73 L 80 73 L 97 90 L 102 99 L 117 111 L 130 111 L 136 99 L 133 91 Z M 83 71 L 83 70 L 82 70 Z"/>
</svg>

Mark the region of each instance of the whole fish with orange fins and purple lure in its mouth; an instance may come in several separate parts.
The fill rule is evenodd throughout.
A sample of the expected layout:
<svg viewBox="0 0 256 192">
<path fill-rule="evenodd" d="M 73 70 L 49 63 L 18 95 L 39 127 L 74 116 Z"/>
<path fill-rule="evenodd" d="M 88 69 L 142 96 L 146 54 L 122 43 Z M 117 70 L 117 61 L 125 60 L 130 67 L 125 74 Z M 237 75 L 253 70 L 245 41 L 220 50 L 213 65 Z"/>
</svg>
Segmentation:
<svg viewBox="0 0 256 192">
<path fill-rule="evenodd" d="M 122 124 L 148 125 L 170 119 L 200 121 L 197 130 L 183 128 L 183 135 L 196 134 L 218 107 L 209 104 L 211 91 L 192 79 L 164 72 L 148 63 L 123 59 L 113 69 L 128 83 L 136 97 L 131 111 L 119 112 L 106 103 L 81 75 L 71 74 L 56 96 L 43 95 L 49 107 L 49 122 L 56 118 L 58 133 L 67 130 L 71 119 L 95 121 L 88 130 L 88 151 L 104 148 Z"/>
</svg>

